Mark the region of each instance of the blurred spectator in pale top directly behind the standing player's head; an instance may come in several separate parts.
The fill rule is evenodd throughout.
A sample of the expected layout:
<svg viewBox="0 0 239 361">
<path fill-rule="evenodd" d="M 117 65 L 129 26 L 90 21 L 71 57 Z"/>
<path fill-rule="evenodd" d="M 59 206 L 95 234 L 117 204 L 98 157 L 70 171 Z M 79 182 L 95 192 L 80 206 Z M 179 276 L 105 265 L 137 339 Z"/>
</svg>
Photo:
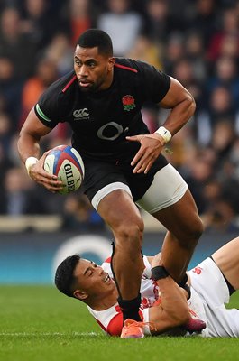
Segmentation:
<svg viewBox="0 0 239 361">
<path fill-rule="evenodd" d="M 97 27 L 112 38 L 115 56 L 125 56 L 142 31 L 143 19 L 131 10 L 130 0 L 107 0 L 107 11 L 98 16 Z"/>
</svg>

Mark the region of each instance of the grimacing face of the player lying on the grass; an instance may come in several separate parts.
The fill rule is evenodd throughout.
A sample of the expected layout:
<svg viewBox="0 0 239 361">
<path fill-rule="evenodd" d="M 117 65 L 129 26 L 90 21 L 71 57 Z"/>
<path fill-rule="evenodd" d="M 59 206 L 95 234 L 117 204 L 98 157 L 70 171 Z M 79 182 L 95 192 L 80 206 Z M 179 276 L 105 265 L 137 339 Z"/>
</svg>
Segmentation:
<svg viewBox="0 0 239 361">
<path fill-rule="evenodd" d="M 115 289 L 115 282 L 102 267 L 94 262 L 80 259 L 74 272 L 77 287 L 89 296 L 100 296 Z"/>
</svg>

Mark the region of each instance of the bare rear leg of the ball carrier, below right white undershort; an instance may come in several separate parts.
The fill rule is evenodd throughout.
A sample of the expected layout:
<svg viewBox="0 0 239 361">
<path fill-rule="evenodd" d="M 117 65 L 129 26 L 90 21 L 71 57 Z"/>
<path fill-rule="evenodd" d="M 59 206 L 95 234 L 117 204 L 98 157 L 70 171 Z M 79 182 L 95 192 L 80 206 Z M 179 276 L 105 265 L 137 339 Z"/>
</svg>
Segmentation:
<svg viewBox="0 0 239 361">
<path fill-rule="evenodd" d="M 203 225 L 189 190 L 177 203 L 152 215 L 169 232 L 162 245 L 161 262 L 176 282 L 185 275 Z"/>
</svg>

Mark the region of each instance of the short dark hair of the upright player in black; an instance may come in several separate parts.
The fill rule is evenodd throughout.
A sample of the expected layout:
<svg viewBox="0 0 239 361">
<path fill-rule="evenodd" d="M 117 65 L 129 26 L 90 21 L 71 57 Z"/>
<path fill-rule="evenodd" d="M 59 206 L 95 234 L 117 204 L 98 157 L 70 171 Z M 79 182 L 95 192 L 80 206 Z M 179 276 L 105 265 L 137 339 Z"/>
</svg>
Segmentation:
<svg viewBox="0 0 239 361">
<path fill-rule="evenodd" d="M 99 29 L 88 29 L 78 38 L 81 48 L 98 48 L 98 53 L 113 56 L 113 45 L 110 36 Z"/>
</svg>

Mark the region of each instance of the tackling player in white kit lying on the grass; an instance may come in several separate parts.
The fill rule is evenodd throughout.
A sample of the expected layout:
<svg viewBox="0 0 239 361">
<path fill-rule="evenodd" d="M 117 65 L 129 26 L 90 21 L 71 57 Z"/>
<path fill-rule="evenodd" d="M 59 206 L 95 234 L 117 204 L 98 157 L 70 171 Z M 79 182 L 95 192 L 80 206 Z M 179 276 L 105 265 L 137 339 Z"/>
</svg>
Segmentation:
<svg viewBox="0 0 239 361">
<path fill-rule="evenodd" d="M 181 335 L 187 329 L 201 331 L 204 337 L 239 337 L 239 310 L 225 308 L 230 295 L 239 289 L 239 237 L 188 272 L 188 301 L 187 292 L 179 288 L 166 270 L 162 274 L 160 267 L 157 277 L 160 260 L 161 254 L 143 256 L 142 322 L 139 322 L 142 337 L 169 334 L 170 330 L 174 335 Z M 106 334 L 121 335 L 123 315 L 117 304 L 118 293 L 110 259 L 100 267 L 78 255 L 69 256 L 59 265 L 55 283 L 60 292 L 85 302 Z M 200 321 L 193 323 L 195 318 L 205 324 Z M 131 320 L 126 320 L 124 324 L 129 327 Z M 135 322 L 132 323 L 134 326 Z M 131 338 L 132 335 L 131 330 Z"/>
</svg>

